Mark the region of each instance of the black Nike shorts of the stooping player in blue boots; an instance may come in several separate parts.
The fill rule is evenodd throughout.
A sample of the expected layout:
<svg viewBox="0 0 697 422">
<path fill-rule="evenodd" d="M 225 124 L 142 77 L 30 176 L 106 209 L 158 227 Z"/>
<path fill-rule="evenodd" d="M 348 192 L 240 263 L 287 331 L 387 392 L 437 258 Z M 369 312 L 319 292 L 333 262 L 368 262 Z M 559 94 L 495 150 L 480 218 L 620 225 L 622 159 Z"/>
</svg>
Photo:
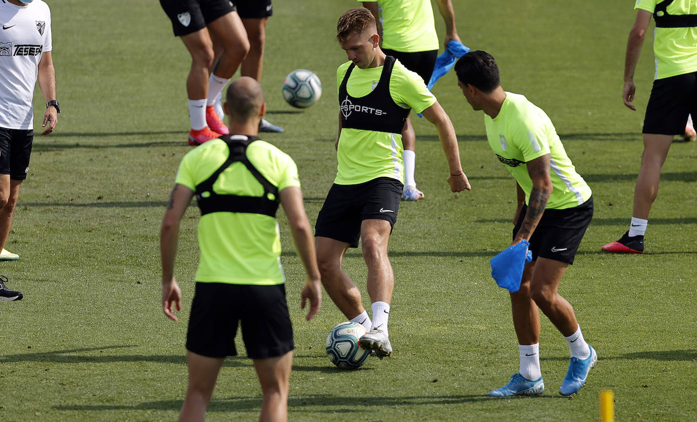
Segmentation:
<svg viewBox="0 0 697 422">
<path fill-rule="evenodd" d="M 520 217 L 513 228 L 513 237 L 525 219 L 527 205 L 523 205 Z M 562 263 L 574 263 L 576 250 L 579 249 L 585 229 L 593 217 L 593 198 L 588 198 L 578 207 L 565 208 L 564 210 L 544 210 L 542 219 L 530 237 L 530 251 L 533 251 L 533 260 L 538 256 L 547 259 L 561 261 Z"/>
</svg>

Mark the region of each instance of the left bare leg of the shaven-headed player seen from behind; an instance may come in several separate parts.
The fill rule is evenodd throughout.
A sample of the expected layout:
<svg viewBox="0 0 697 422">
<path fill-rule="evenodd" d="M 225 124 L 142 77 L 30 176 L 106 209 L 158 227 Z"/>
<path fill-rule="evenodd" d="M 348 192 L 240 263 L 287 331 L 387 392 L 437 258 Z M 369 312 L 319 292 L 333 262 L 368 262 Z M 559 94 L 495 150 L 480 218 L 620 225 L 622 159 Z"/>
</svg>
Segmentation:
<svg viewBox="0 0 697 422">
<path fill-rule="evenodd" d="M 222 358 L 201 356 L 186 352 L 189 367 L 189 385 L 179 414 L 179 422 L 204 422 L 206 407 L 213 395 L 215 380 L 223 363 Z"/>
</svg>

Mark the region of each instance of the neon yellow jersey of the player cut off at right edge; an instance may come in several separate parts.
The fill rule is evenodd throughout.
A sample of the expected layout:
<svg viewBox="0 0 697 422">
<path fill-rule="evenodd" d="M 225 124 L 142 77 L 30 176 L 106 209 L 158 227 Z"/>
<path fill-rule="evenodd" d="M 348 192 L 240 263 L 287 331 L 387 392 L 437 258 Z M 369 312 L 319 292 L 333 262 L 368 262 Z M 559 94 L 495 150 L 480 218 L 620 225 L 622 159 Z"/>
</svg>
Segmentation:
<svg viewBox="0 0 697 422">
<path fill-rule="evenodd" d="M 634 9 L 654 13 L 660 0 L 636 0 Z M 697 15 L 694 0 L 674 0 L 666 12 L 670 15 Z M 654 31 L 656 79 L 697 72 L 697 27 L 656 28 Z"/>
</svg>

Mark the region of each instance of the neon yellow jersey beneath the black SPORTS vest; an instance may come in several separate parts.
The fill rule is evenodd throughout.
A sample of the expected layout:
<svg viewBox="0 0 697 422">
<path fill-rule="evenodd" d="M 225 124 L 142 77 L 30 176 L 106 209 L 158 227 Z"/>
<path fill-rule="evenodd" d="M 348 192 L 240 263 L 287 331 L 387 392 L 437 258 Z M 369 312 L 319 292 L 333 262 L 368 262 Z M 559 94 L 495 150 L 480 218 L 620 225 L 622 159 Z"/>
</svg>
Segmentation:
<svg viewBox="0 0 697 422">
<path fill-rule="evenodd" d="M 347 61 L 337 69 L 337 92 L 346 75 Z M 383 67 L 353 68 L 346 91 L 352 97 L 369 94 L 377 86 Z M 419 75 L 395 61 L 390 76 L 390 96 L 395 104 L 417 113 L 431 107 L 436 97 L 426 88 Z M 337 185 L 358 185 L 380 177 L 397 179 L 404 183 L 404 146 L 401 133 L 342 128 L 337 150 Z"/>
</svg>

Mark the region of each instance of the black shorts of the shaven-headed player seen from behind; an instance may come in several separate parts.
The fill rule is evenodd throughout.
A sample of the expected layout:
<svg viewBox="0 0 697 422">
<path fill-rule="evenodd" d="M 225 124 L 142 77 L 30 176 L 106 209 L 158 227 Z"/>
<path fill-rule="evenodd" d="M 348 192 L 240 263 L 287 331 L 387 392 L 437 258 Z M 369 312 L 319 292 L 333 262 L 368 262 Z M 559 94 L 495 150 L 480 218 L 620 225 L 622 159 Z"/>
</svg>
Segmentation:
<svg viewBox="0 0 697 422">
<path fill-rule="evenodd" d="M 278 357 L 293 350 L 284 284 L 196 283 L 186 348 L 207 357 L 236 356 L 238 323 L 247 356 Z"/>
</svg>

